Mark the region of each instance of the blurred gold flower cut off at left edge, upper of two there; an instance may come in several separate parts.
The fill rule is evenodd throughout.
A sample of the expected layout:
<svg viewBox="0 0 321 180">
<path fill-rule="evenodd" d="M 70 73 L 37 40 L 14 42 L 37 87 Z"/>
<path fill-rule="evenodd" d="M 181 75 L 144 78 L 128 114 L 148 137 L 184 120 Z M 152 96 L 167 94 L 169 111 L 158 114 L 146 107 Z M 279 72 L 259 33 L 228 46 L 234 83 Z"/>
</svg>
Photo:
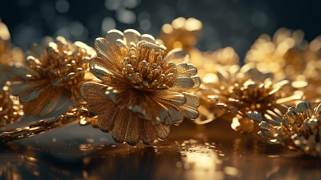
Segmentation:
<svg viewBox="0 0 321 180">
<path fill-rule="evenodd" d="M 11 78 L 10 65 L 22 62 L 24 53 L 20 48 L 11 47 L 10 33 L 7 26 L 0 19 L 0 84 Z"/>
</svg>

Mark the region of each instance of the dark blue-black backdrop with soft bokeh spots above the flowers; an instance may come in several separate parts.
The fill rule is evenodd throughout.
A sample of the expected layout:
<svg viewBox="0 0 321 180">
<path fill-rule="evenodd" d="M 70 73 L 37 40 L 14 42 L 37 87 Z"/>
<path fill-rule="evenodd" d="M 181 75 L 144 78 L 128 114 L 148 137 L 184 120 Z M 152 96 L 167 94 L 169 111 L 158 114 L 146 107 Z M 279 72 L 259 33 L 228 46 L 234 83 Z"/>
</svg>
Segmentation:
<svg viewBox="0 0 321 180">
<path fill-rule="evenodd" d="M 114 28 L 157 36 L 174 18 L 195 17 L 204 24 L 199 49 L 232 46 L 242 60 L 260 34 L 273 35 L 280 27 L 302 29 L 310 42 L 321 34 L 320 9 L 318 1 L 13 0 L 0 3 L 0 18 L 13 44 L 26 50 L 46 35 L 63 35 L 90 46 Z"/>
</svg>

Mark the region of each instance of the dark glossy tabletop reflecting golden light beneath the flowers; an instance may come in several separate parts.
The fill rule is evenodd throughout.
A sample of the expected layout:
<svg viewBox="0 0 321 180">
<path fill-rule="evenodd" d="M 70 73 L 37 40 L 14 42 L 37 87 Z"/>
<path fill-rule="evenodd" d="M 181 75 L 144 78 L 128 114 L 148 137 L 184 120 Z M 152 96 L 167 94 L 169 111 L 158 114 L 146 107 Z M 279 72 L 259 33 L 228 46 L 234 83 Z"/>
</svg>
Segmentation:
<svg viewBox="0 0 321 180">
<path fill-rule="evenodd" d="M 320 179 L 321 159 L 229 123 L 171 126 L 152 145 L 117 144 L 110 133 L 68 125 L 1 146 L 0 179 Z"/>
</svg>

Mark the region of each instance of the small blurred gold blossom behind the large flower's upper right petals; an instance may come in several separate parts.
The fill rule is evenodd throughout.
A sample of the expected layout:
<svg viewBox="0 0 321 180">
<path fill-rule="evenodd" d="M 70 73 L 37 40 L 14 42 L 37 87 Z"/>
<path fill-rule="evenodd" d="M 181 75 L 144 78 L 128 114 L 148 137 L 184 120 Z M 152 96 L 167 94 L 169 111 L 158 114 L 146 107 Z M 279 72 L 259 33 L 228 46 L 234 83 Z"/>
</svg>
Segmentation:
<svg viewBox="0 0 321 180">
<path fill-rule="evenodd" d="M 182 48 L 190 53 L 202 28 L 202 22 L 195 18 L 178 17 L 171 24 L 163 25 L 158 36 L 162 39 L 168 51 Z"/>
</svg>

